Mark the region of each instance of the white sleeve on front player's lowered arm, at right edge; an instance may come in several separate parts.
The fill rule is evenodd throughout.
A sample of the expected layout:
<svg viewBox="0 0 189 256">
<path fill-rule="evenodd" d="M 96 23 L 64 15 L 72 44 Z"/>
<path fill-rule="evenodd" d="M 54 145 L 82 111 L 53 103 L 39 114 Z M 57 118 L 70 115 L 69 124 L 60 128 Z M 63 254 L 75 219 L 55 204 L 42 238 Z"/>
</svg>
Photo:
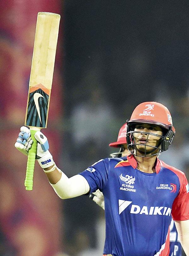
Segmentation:
<svg viewBox="0 0 189 256">
<path fill-rule="evenodd" d="M 178 232 L 178 239 L 182 245 L 186 256 L 189 256 L 189 219 L 175 221 L 175 226 Z"/>
</svg>

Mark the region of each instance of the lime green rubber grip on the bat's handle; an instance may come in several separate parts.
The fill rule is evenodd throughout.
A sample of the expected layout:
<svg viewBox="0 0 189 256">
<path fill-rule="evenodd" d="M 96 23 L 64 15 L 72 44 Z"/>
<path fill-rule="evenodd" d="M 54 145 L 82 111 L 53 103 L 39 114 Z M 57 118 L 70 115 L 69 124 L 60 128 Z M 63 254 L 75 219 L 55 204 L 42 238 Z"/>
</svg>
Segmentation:
<svg viewBox="0 0 189 256">
<path fill-rule="evenodd" d="M 24 185 L 26 187 L 26 190 L 32 190 L 33 189 L 33 172 L 34 172 L 34 166 L 35 166 L 35 158 L 37 154 L 37 140 L 34 137 L 34 134 L 36 131 L 31 131 L 31 139 L 33 140 L 32 146 L 28 151 L 28 160 L 27 160 L 27 167 L 26 167 L 26 179 L 24 182 Z"/>
</svg>

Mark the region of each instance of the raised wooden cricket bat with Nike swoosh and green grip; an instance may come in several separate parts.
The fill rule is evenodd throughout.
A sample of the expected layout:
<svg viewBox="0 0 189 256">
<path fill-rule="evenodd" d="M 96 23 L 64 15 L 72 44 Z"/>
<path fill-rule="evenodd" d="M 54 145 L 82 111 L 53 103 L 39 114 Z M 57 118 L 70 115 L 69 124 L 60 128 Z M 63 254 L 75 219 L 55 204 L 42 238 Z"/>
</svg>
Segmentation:
<svg viewBox="0 0 189 256">
<path fill-rule="evenodd" d="M 37 153 L 37 140 L 34 134 L 47 127 L 59 23 L 59 14 L 39 12 L 37 15 L 25 118 L 25 125 L 30 127 L 33 140 L 28 152 L 24 183 L 26 190 L 33 188 L 33 172 Z"/>
</svg>

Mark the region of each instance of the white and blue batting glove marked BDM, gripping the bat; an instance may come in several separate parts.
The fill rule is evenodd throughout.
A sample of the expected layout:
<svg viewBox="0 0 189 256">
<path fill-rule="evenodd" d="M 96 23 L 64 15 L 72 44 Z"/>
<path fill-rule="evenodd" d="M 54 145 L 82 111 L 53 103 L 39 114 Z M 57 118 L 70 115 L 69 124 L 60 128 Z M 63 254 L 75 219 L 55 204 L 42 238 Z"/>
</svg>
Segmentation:
<svg viewBox="0 0 189 256">
<path fill-rule="evenodd" d="M 47 137 L 41 131 L 37 131 L 34 137 L 38 141 L 36 159 L 39 165 L 43 169 L 53 165 L 55 166 L 53 157 L 48 150 L 49 143 L 48 143 Z M 28 150 L 31 148 L 32 143 L 33 141 L 31 139 L 30 128 L 26 126 L 22 126 L 20 128 L 19 137 L 17 138 L 14 146 L 23 154 L 28 155 Z M 53 170 L 49 170 L 49 171 L 53 171 Z M 46 171 L 46 172 L 49 172 L 49 171 Z"/>
</svg>

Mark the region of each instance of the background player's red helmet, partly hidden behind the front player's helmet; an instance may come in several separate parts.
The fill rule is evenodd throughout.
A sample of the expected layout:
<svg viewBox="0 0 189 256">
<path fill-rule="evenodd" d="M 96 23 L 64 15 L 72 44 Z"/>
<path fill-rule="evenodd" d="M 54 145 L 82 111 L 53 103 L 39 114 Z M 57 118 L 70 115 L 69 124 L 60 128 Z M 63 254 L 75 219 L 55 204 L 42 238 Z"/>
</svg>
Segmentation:
<svg viewBox="0 0 189 256">
<path fill-rule="evenodd" d="M 127 123 L 122 125 L 122 127 L 120 128 L 117 141 L 109 144 L 110 147 L 120 148 L 119 152 L 110 154 L 111 157 L 118 157 L 119 155 L 122 155 L 123 151 L 125 150 L 125 147 L 123 145 L 127 144 L 126 135 Z"/>
</svg>

